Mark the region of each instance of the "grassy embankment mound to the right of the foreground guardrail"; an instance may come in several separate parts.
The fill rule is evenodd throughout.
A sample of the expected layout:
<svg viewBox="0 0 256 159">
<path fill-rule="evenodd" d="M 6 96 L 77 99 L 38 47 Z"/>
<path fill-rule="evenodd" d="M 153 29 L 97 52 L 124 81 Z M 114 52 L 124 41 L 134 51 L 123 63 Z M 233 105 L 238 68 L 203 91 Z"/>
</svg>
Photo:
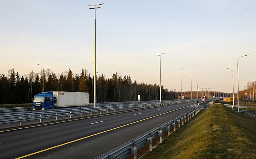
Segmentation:
<svg viewBox="0 0 256 159">
<path fill-rule="evenodd" d="M 256 122 L 214 104 L 157 144 L 142 159 L 256 159 Z"/>
</svg>

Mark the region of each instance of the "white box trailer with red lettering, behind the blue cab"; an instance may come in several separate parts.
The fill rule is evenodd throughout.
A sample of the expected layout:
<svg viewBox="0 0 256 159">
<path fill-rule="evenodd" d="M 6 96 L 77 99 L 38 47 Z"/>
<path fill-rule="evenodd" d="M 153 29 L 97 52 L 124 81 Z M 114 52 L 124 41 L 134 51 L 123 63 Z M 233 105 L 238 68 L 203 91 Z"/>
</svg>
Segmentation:
<svg viewBox="0 0 256 159">
<path fill-rule="evenodd" d="M 89 105 L 89 93 L 53 91 L 54 107 L 77 107 Z"/>
</svg>

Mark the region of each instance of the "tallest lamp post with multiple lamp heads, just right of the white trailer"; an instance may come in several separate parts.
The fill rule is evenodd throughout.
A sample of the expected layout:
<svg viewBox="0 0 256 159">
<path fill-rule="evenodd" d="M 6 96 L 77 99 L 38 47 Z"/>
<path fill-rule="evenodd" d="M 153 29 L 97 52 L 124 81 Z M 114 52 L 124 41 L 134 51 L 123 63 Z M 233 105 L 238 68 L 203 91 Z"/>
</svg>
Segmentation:
<svg viewBox="0 0 256 159">
<path fill-rule="evenodd" d="M 101 8 L 101 7 L 96 7 L 96 6 L 101 6 L 104 3 L 98 4 L 98 5 L 88 5 L 87 7 L 92 7 L 94 8 L 89 8 L 89 9 L 94 9 L 95 10 L 95 36 L 94 36 L 94 77 L 96 77 L 96 9 Z M 96 107 L 96 78 L 94 78 L 94 94 L 93 94 L 93 108 Z"/>
</svg>

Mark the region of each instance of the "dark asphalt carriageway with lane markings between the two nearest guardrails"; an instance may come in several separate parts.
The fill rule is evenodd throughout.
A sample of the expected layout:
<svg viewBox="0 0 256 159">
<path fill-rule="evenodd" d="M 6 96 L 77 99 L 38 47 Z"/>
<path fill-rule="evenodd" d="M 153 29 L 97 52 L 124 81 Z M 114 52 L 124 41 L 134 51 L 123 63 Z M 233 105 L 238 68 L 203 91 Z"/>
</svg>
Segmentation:
<svg viewBox="0 0 256 159">
<path fill-rule="evenodd" d="M 193 104 L 196 101 L 0 131 L 1 158 L 93 159 L 186 113 Z"/>
</svg>

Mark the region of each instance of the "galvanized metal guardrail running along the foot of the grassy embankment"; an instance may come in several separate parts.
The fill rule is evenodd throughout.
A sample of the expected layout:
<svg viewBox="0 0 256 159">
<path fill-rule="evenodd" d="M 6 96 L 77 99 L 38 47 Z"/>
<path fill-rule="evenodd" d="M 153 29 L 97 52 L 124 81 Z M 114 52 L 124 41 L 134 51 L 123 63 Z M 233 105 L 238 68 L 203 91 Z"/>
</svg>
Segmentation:
<svg viewBox="0 0 256 159">
<path fill-rule="evenodd" d="M 180 124 L 182 123 L 183 125 L 184 120 L 185 122 L 187 122 L 187 120 L 191 119 L 191 117 L 196 115 L 202 109 L 203 106 L 198 106 L 197 108 L 194 108 L 193 110 L 190 110 L 177 118 L 174 118 L 168 122 L 165 122 L 164 124 L 159 125 L 154 129 L 151 129 L 145 134 L 142 134 L 141 136 L 132 139 L 131 141 L 119 146 L 118 148 L 113 149 L 112 151 L 105 153 L 104 155 L 99 156 L 96 159 L 126 159 L 128 156 L 131 155 L 134 156 L 134 159 L 137 159 L 138 150 L 140 148 L 149 144 L 149 151 L 152 151 L 152 146 L 154 146 L 152 144 L 152 141 L 154 139 L 160 137 L 160 142 L 162 143 L 164 132 L 168 132 L 168 135 L 170 135 L 170 128 L 174 128 L 175 131 L 176 124 L 178 124 L 178 128 L 180 128 Z"/>
</svg>

